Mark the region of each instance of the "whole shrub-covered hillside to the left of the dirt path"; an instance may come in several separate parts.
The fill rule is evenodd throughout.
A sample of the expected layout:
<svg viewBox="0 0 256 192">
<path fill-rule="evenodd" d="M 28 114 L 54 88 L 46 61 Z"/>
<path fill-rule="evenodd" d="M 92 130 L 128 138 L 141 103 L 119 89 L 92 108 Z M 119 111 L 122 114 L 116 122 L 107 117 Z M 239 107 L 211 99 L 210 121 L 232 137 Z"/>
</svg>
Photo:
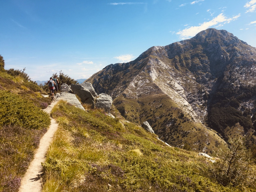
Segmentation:
<svg viewBox="0 0 256 192">
<path fill-rule="evenodd" d="M 0 191 L 18 191 L 40 138 L 50 125 L 41 109 L 51 103 L 20 70 L 0 71 Z M 46 93 L 44 93 L 46 94 Z"/>
</svg>

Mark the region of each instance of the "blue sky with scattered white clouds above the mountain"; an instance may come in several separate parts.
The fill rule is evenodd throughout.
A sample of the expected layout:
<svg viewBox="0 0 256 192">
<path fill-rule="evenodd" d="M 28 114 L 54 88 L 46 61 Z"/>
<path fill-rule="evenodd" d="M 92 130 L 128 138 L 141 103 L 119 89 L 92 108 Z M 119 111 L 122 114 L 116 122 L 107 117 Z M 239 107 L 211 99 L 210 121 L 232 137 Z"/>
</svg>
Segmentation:
<svg viewBox="0 0 256 192">
<path fill-rule="evenodd" d="M 60 70 L 89 78 L 207 28 L 256 47 L 256 0 L 6 0 L 0 23 L 5 68 L 34 81 Z"/>
</svg>

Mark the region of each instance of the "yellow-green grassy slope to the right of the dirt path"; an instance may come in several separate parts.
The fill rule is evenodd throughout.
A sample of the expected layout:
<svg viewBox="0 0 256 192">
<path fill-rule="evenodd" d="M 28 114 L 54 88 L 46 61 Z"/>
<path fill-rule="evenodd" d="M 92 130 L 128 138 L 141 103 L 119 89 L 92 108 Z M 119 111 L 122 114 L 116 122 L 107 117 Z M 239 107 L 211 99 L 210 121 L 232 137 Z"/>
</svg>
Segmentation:
<svg viewBox="0 0 256 192">
<path fill-rule="evenodd" d="M 115 119 L 64 101 L 54 106 L 59 129 L 43 164 L 43 192 L 255 191 L 253 183 L 244 181 L 218 184 L 203 168 L 204 157 L 169 147 L 155 134 L 124 121 L 116 109 L 111 113 Z"/>
</svg>

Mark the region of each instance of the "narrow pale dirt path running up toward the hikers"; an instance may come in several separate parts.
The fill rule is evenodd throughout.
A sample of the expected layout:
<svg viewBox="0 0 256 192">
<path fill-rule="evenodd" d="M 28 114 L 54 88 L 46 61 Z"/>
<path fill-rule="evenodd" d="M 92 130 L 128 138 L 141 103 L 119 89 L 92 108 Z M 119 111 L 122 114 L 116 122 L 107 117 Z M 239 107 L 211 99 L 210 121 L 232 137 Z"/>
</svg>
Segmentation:
<svg viewBox="0 0 256 192">
<path fill-rule="evenodd" d="M 56 103 L 57 102 L 52 103 L 46 109 L 44 109 L 44 111 L 50 114 L 53 106 Z M 41 162 L 45 161 L 46 151 L 50 146 L 54 132 L 57 130 L 57 128 L 58 124 L 53 118 L 51 118 L 51 125 L 48 131 L 41 138 L 39 147 L 36 150 L 36 154 L 34 155 L 34 159 L 29 164 L 28 170 L 21 180 L 19 192 L 40 192 L 42 190 L 41 176 L 43 172 Z"/>
</svg>

